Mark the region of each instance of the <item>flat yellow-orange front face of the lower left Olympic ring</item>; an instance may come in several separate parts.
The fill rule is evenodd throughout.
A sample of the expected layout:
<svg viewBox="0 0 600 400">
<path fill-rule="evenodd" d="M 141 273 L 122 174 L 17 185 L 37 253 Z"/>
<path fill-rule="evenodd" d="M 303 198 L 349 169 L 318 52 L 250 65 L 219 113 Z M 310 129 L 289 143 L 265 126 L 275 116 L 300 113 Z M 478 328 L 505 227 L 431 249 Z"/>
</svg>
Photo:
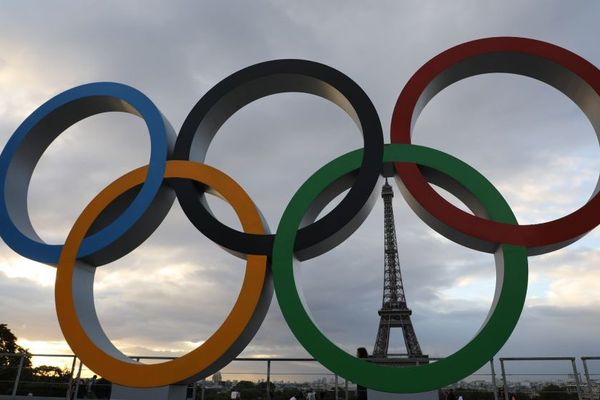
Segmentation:
<svg viewBox="0 0 600 400">
<path fill-rule="evenodd" d="M 90 226 L 109 204 L 119 195 L 144 182 L 147 169 L 145 166 L 123 175 L 83 210 L 60 255 L 55 285 L 58 321 L 75 354 L 91 370 L 109 381 L 140 388 L 184 383 L 227 357 L 226 352 L 236 347 L 236 342 L 251 323 L 270 279 L 267 257 L 248 256 L 242 289 L 223 324 L 201 346 L 175 360 L 160 364 L 141 364 L 125 359 L 124 356 L 121 359 L 115 358 L 94 343 L 82 326 L 75 308 L 73 274 L 77 268 L 79 246 Z M 168 161 L 165 178 L 186 178 L 209 186 L 233 207 L 244 232 L 265 233 L 258 210 L 248 194 L 219 170 L 191 161 Z M 119 355 L 122 353 L 117 356 Z"/>
</svg>

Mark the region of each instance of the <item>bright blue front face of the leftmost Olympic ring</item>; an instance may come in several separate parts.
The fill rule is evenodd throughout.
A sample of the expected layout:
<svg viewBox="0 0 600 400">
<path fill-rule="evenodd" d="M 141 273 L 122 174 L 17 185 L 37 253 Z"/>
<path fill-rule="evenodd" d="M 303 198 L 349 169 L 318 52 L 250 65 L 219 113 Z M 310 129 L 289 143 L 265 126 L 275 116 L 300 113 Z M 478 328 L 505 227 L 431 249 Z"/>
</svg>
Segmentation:
<svg viewBox="0 0 600 400">
<path fill-rule="evenodd" d="M 107 104 L 109 105 L 107 106 Z M 15 156 L 19 155 L 19 151 L 26 151 L 24 150 L 24 144 L 28 145 L 27 139 L 28 137 L 31 138 L 30 134 L 33 129 L 51 118 L 57 118 L 57 115 L 61 111 L 64 112 L 65 109 L 77 108 L 78 106 L 81 108 L 79 111 L 83 113 L 83 116 L 77 118 L 77 115 L 74 116 L 73 113 L 66 113 L 65 115 L 68 115 L 65 118 L 67 122 L 63 124 L 67 124 L 67 127 L 91 115 L 108 111 L 124 111 L 132 114 L 138 113 L 145 121 L 150 134 L 150 161 L 146 181 L 135 199 L 121 215 L 100 231 L 83 240 L 78 257 L 86 257 L 102 250 L 129 231 L 150 207 L 161 187 L 166 161 L 170 155 L 171 146 L 168 135 L 172 132 L 172 128 L 148 97 L 137 89 L 114 82 L 89 83 L 74 87 L 53 97 L 23 121 L 10 137 L 2 154 L 0 154 L 0 236 L 14 251 L 32 260 L 44 263 L 56 263 L 63 246 L 47 244 L 41 241 L 41 239 L 32 238 L 30 236 L 37 236 L 32 227 L 33 235 L 28 236 L 15 224 L 13 220 L 13 217 L 15 217 L 14 212 L 11 215 L 6 200 L 8 194 L 7 180 L 11 172 L 11 163 L 14 161 Z M 89 107 L 97 107 L 100 111 L 90 112 Z M 75 121 L 72 121 L 73 119 Z M 64 129 L 66 128 L 63 128 L 62 131 Z M 58 133 L 50 132 L 49 137 L 53 138 L 41 151 L 38 149 L 39 155 L 34 155 L 31 160 L 27 160 L 29 161 L 28 167 L 31 169 L 31 172 L 33 172 L 41 154 L 62 131 Z M 19 156 L 22 156 L 22 154 Z M 19 168 L 21 167 L 15 167 L 15 170 Z M 29 180 L 31 177 L 26 176 L 26 178 Z M 27 187 L 28 184 L 25 186 L 25 198 Z M 16 196 L 18 195 L 23 196 L 23 193 L 18 193 Z M 24 223 L 30 224 L 26 203 L 19 207 L 25 207 L 24 211 L 17 211 L 20 214 L 19 217 L 21 219 L 26 217 Z"/>
</svg>

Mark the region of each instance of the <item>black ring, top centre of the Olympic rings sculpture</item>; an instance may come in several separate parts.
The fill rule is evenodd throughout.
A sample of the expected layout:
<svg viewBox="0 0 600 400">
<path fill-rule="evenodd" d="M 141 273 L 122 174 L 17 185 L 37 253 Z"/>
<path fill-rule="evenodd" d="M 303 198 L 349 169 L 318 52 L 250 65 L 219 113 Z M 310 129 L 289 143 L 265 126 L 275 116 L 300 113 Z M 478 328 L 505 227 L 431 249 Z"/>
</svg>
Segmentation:
<svg viewBox="0 0 600 400">
<path fill-rule="evenodd" d="M 374 189 L 383 160 L 383 132 L 377 111 L 352 79 L 327 65 L 306 60 L 273 60 L 244 68 L 223 79 L 196 103 L 175 143 L 174 158 L 204 162 L 208 147 L 221 125 L 236 111 L 276 93 L 301 92 L 323 97 L 342 108 L 362 132 L 364 157 L 355 181 L 342 201 L 318 221 L 302 227 L 296 256 L 316 257 L 346 239 L 364 221 L 376 196 Z M 270 255 L 274 235 L 251 235 L 218 221 L 204 201 L 205 188 L 186 180 L 172 182 L 183 211 L 209 239 L 236 255 Z M 335 190 L 324 193 L 312 215 Z M 311 214 L 311 213 L 309 213 Z"/>
</svg>

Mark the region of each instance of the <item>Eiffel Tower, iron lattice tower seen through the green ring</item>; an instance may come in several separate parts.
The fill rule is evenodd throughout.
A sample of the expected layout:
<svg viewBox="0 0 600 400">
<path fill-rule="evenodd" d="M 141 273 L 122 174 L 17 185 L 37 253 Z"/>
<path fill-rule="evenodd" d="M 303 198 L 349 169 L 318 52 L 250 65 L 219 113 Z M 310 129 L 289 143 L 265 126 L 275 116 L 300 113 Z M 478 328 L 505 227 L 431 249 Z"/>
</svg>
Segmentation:
<svg viewBox="0 0 600 400">
<path fill-rule="evenodd" d="M 383 302 L 379 315 L 379 330 L 373 349 L 374 358 L 387 358 L 390 344 L 390 329 L 402 328 L 404 344 L 408 358 L 422 358 L 421 346 L 410 320 L 412 311 L 406 305 L 400 261 L 398 258 L 398 242 L 394 226 L 394 210 L 392 208 L 392 187 L 385 181 L 381 189 L 384 204 L 384 277 L 383 277 Z"/>
</svg>

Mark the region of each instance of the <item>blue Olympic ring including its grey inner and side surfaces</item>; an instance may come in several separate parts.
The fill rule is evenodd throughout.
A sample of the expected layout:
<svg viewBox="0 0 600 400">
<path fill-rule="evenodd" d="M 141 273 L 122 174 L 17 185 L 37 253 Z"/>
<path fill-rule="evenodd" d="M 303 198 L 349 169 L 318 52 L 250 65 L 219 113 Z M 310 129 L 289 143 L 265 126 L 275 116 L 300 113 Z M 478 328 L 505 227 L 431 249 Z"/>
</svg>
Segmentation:
<svg viewBox="0 0 600 400">
<path fill-rule="evenodd" d="M 58 261 L 62 245 L 44 243 L 27 211 L 27 191 L 33 170 L 64 130 L 89 116 L 121 111 L 144 119 L 150 135 L 148 176 L 131 199 L 122 199 L 101 218 L 83 240 L 79 257 L 97 265 L 129 253 L 144 241 L 146 226 L 158 226 L 173 196 L 159 193 L 165 163 L 171 153 L 173 129 L 156 106 L 140 91 L 118 83 L 97 82 L 75 87 L 48 100 L 17 128 L 0 154 L 0 232 L 14 251 L 44 263 Z M 151 211 L 151 212 L 149 212 Z M 161 215 L 162 214 L 162 215 Z"/>
</svg>

